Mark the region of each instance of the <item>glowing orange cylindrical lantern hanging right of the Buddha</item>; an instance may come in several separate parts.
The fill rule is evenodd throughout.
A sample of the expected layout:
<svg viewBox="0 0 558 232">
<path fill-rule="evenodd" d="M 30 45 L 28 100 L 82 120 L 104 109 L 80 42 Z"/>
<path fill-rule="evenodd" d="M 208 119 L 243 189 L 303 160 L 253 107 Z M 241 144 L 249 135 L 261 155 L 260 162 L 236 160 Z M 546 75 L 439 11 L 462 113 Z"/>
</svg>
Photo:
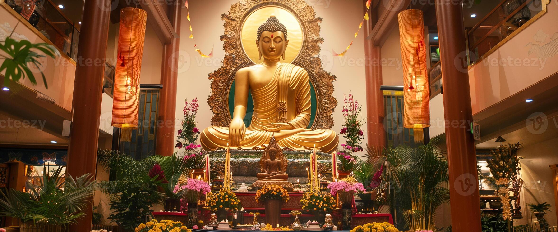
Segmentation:
<svg viewBox="0 0 558 232">
<path fill-rule="evenodd" d="M 430 127 L 430 85 L 422 11 L 407 9 L 397 18 L 403 61 L 403 126 Z"/>
</svg>

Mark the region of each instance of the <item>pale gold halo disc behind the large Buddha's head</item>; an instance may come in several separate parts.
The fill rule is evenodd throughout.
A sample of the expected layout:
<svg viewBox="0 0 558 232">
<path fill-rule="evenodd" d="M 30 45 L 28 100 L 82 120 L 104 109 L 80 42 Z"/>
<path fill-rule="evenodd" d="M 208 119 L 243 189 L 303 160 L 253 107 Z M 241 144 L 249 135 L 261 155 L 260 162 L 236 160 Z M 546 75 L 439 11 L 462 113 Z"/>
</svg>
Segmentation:
<svg viewBox="0 0 558 232">
<path fill-rule="evenodd" d="M 285 60 L 281 62 L 290 63 L 299 55 L 300 48 L 302 47 L 302 26 L 299 20 L 292 15 L 291 12 L 285 8 L 277 6 L 265 6 L 252 12 L 242 25 L 240 35 L 242 37 L 242 48 L 248 58 L 255 64 L 261 64 L 262 60 L 258 60 L 258 47 L 256 45 L 258 27 L 270 16 L 277 17 L 279 22 L 283 23 L 287 28 L 288 46 L 285 51 Z"/>
</svg>

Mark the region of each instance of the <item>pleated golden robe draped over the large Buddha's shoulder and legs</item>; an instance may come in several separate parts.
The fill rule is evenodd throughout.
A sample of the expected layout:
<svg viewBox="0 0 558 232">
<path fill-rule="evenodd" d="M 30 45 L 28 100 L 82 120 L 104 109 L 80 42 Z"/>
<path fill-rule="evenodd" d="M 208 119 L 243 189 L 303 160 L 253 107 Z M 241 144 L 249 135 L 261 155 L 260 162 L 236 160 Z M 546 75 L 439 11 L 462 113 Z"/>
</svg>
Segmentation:
<svg viewBox="0 0 558 232">
<path fill-rule="evenodd" d="M 294 128 L 307 128 L 310 123 L 310 78 L 304 68 L 283 63 L 272 80 L 260 89 L 250 89 L 254 103 L 252 122 L 246 129 L 240 146 L 243 149 L 261 147 L 270 142 L 273 132 L 263 125 L 288 123 Z M 226 147 L 229 128 L 212 126 L 201 132 L 201 146 L 206 150 Z M 317 149 L 331 153 L 338 145 L 338 136 L 333 130 L 316 129 L 300 132 L 277 141 L 279 146 L 291 149 Z"/>
</svg>

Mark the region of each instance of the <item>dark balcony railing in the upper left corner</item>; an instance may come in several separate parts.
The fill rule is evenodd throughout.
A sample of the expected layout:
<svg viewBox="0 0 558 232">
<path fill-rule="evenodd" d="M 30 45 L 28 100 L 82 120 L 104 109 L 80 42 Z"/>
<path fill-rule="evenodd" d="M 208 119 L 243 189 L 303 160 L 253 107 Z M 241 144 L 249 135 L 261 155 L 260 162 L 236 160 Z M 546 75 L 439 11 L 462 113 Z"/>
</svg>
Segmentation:
<svg viewBox="0 0 558 232">
<path fill-rule="evenodd" d="M 24 1 L 6 0 L 6 4 L 17 15 L 20 15 Z M 51 0 L 36 1 L 35 6 L 35 11 L 29 20 L 23 17 L 21 17 L 21 20 L 30 23 L 40 35 L 52 42 L 62 54 L 75 61 L 78 56 L 79 29 L 76 28 L 74 22 L 69 20 Z M 81 9 L 76 10 L 81 11 Z"/>
</svg>

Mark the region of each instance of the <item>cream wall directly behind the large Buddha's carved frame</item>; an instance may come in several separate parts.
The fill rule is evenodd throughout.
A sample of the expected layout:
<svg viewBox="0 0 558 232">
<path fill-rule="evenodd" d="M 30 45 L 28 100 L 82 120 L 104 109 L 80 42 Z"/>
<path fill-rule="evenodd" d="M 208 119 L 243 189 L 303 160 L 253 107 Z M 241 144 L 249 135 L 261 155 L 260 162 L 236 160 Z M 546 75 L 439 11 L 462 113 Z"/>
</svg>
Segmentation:
<svg viewBox="0 0 558 232">
<path fill-rule="evenodd" d="M 211 113 L 208 104 L 206 104 L 206 99 L 210 94 L 211 83 L 207 79 L 207 75 L 222 65 L 221 61 L 224 57 L 224 51 L 223 42 L 219 40 L 219 36 L 224 32 L 224 21 L 221 20 L 221 15 L 227 13 L 230 4 L 234 2 L 237 1 L 205 0 L 189 2 L 195 42 L 197 42 L 199 49 L 205 54 L 209 54 L 211 49 L 214 49 L 214 56 L 208 59 L 201 58 L 194 51 L 195 42 L 188 38 L 190 31 L 189 22 L 186 20 L 186 11 L 182 12 L 181 60 L 179 62 L 181 67 L 179 68 L 179 89 L 177 91 L 176 103 L 176 130 L 179 129 L 179 122 L 183 118 L 182 108 L 184 107 L 185 99 L 198 98 L 200 101 L 197 117 L 198 127 L 203 129 L 210 125 L 213 113 Z M 343 123 L 343 115 L 341 114 L 343 94 L 349 94 L 349 91 L 351 91 L 355 99 L 363 106 L 362 112 L 366 112 L 364 39 L 362 31 L 357 38 L 354 38 L 354 33 L 358 30 L 358 25 L 362 21 L 363 2 L 360 0 L 316 0 L 306 2 L 314 6 L 316 16 L 323 18 L 323 22 L 320 23 L 320 35 L 324 38 L 324 43 L 321 44 L 320 56 L 323 59 L 324 70 L 337 76 L 337 81 L 334 82 L 334 95 L 338 100 L 338 107 L 333 115 L 335 122 L 333 129 L 339 132 Z M 344 57 L 334 57 L 332 55 L 333 50 L 338 53 L 343 52 L 353 39 L 353 45 L 347 52 L 347 55 Z M 366 115 L 362 116 L 365 119 Z"/>
</svg>

